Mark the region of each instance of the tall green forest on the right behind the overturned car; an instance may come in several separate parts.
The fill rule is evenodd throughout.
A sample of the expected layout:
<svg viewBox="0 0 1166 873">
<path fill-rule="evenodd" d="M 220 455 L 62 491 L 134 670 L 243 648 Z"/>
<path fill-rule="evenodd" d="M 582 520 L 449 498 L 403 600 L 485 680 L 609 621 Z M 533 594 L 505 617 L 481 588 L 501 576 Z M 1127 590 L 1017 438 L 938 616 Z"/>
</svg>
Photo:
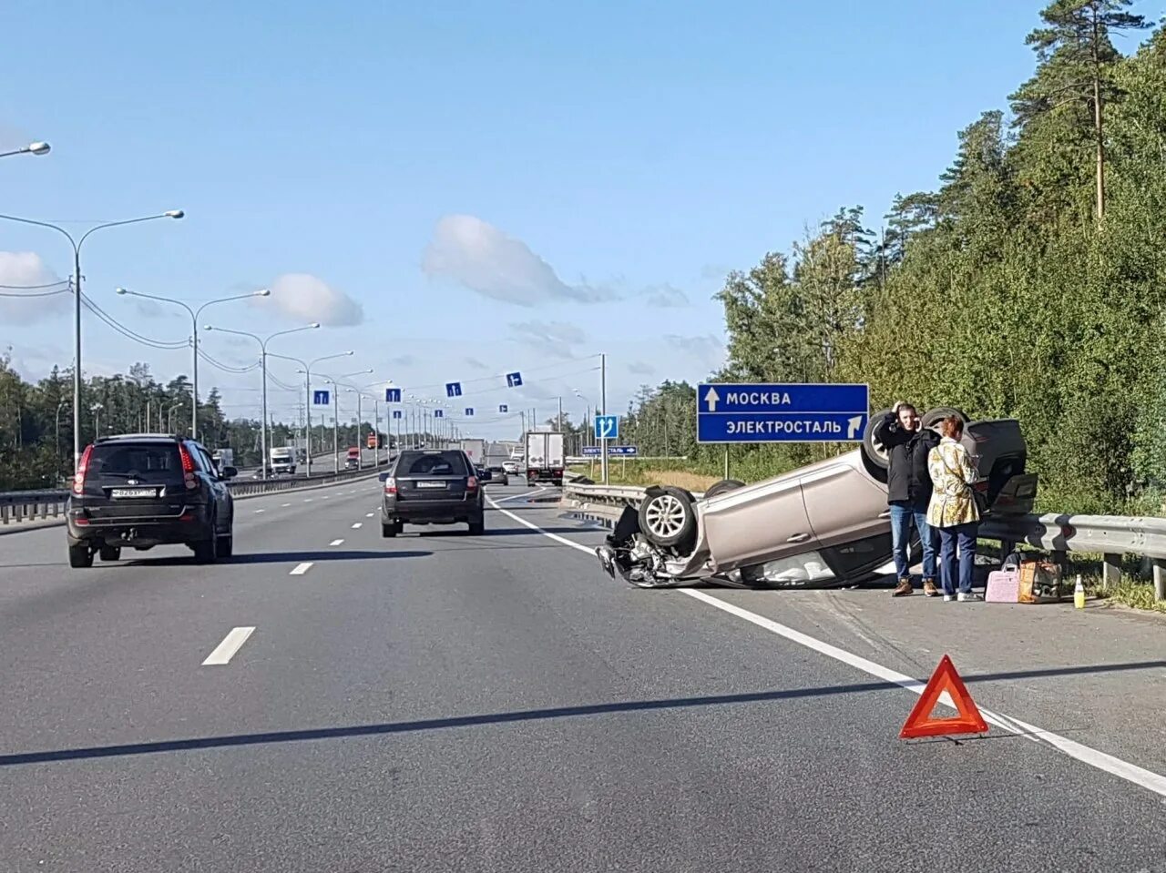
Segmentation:
<svg viewBox="0 0 1166 873">
<path fill-rule="evenodd" d="M 900 193 L 878 231 L 843 206 L 731 273 L 714 379 L 866 382 L 876 409 L 1016 417 L 1042 509 L 1163 514 L 1166 30 L 1129 6 L 1048 5 L 1009 111 L 970 119 L 935 190 Z M 1118 36 L 1140 47 L 1123 56 Z M 717 470 L 695 402 L 689 385 L 645 388 L 627 410 L 641 452 L 665 453 L 649 425 L 667 421 L 670 453 Z M 732 455 L 757 476 L 814 451 Z"/>
</svg>

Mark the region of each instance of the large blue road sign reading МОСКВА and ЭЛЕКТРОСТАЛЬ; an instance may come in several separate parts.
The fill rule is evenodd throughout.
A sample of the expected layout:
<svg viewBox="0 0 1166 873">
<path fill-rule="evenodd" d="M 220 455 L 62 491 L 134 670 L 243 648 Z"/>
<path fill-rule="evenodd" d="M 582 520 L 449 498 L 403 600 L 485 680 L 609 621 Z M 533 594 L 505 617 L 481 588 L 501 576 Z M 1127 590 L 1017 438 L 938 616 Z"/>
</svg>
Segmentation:
<svg viewBox="0 0 1166 873">
<path fill-rule="evenodd" d="M 865 385 L 701 385 L 698 443 L 862 442 Z"/>
</svg>

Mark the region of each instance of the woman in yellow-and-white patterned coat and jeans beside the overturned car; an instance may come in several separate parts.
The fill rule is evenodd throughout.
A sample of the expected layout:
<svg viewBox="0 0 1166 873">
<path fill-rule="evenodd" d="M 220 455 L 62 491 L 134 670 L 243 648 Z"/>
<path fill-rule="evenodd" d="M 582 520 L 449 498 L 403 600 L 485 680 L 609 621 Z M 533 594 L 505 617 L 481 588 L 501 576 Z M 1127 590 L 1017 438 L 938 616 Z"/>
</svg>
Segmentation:
<svg viewBox="0 0 1166 873">
<path fill-rule="evenodd" d="M 976 565 L 976 534 L 979 509 L 971 486 L 979 478 L 968 450 L 960 442 L 963 422 L 951 415 L 943 420 L 943 438 L 927 455 L 932 474 L 932 500 L 927 506 L 927 523 L 940 531 L 940 580 L 943 599 L 983 600 L 971 591 Z M 960 550 L 956 561 L 956 547 Z M 958 568 L 957 568 L 958 565 Z M 960 593 L 956 594 L 958 579 Z"/>
</svg>

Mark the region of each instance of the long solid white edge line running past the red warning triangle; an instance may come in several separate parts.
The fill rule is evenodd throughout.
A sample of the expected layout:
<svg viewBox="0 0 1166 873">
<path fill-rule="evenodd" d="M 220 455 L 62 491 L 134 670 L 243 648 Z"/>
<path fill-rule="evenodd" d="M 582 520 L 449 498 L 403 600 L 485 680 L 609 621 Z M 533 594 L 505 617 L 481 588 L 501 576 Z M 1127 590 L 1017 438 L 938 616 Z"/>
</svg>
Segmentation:
<svg viewBox="0 0 1166 873">
<path fill-rule="evenodd" d="M 507 509 L 503 509 L 492 499 L 490 502 L 494 504 L 494 508 L 504 515 L 510 516 L 518 523 L 524 524 L 532 530 L 538 530 L 540 534 L 554 540 L 555 542 L 563 543 L 573 549 L 578 549 L 580 551 L 585 551 L 591 555 L 595 554 L 595 549 L 584 545 L 583 543 L 573 542 L 566 537 L 559 536 L 557 534 L 543 530 L 538 524 L 532 524 L 526 519 L 522 519 Z M 921 695 L 923 689 L 927 687 L 926 682 L 921 682 L 887 667 L 883 667 L 881 664 L 874 663 L 873 661 L 862 657 L 861 655 L 855 655 L 854 653 L 841 649 L 837 646 L 831 646 L 828 642 L 823 642 L 822 640 L 809 636 L 808 634 L 803 634 L 800 631 L 794 631 L 792 627 L 778 624 L 772 619 L 758 615 L 749 610 L 743 610 L 739 606 L 735 606 L 733 604 L 712 597 L 711 594 L 707 594 L 697 589 L 673 589 L 673 591 L 691 597 L 693 599 L 700 600 L 701 603 L 712 606 L 714 608 L 728 612 L 730 615 L 736 615 L 737 618 L 749 621 L 752 625 L 757 625 L 770 633 L 784 636 L 791 642 L 805 646 L 806 648 L 813 649 L 821 655 L 826 655 L 835 661 L 841 661 L 842 663 L 854 667 L 857 670 L 880 678 L 884 682 L 899 685 L 900 688 L 904 688 L 913 694 Z M 940 703 L 951 706 L 951 698 L 944 694 L 940 697 Z M 1058 752 L 1061 752 L 1069 758 L 1081 761 L 1082 763 L 1087 763 L 1100 770 L 1104 770 L 1105 773 L 1110 773 L 1118 779 L 1124 779 L 1126 782 L 1140 786 L 1142 788 L 1153 791 L 1157 795 L 1166 797 L 1166 776 L 1159 773 L 1138 767 L 1129 761 L 1123 761 L 1121 758 L 1116 758 L 1105 752 L 1100 752 L 1096 748 L 1090 748 L 1089 746 L 1070 740 L 1067 737 L 1061 737 L 1052 731 L 1046 731 L 1042 727 L 1030 725 L 1027 721 L 1021 721 L 1014 716 L 992 712 L 991 710 L 985 710 L 982 706 L 979 707 L 979 711 L 983 713 L 984 719 L 989 724 L 997 725 L 998 727 L 1003 727 L 1005 731 L 1010 731 L 1012 733 L 1024 733 L 1028 737 L 1028 739 L 1035 742 L 1044 740 Z"/>
</svg>

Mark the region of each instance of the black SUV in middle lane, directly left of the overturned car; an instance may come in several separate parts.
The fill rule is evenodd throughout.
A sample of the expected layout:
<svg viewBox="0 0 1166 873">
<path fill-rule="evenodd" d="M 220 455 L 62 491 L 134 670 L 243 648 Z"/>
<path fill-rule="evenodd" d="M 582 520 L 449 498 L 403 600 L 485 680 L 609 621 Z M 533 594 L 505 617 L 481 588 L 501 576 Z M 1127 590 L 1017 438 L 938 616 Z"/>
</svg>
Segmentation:
<svg viewBox="0 0 1166 873">
<path fill-rule="evenodd" d="M 403 451 L 380 474 L 385 494 L 380 506 L 381 536 L 396 536 L 406 524 L 457 524 L 485 533 L 485 499 L 477 470 L 456 449 Z"/>
</svg>

